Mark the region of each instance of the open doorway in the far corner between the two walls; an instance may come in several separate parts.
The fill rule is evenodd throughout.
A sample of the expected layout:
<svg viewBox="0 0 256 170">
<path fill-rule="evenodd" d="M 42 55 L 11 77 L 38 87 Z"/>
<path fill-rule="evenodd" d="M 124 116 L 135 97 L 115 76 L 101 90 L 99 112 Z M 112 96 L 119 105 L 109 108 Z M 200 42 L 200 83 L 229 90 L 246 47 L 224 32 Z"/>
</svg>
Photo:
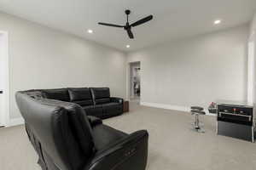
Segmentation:
<svg viewBox="0 0 256 170">
<path fill-rule="evenodd" d="M 130 100 L 140 102 L 141 97 L 141 63 L 130 63 Z"/>
</svg>

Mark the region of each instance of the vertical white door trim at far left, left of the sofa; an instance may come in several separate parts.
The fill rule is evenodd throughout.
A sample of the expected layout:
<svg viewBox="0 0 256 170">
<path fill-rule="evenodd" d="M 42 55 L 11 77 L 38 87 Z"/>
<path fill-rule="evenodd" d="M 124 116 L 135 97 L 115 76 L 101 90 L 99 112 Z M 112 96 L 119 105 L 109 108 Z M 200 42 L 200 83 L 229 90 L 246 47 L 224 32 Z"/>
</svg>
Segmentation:
<svg viewBox="0 0 256 170">
<path fill-rule="evenodd" d="M 5 84 L 3 87 L 3 110 L 5 115 L 3 116 L 3 126 L 9 125 L 9 34 L 8 31 L 0 31 L 0 34 L 3 35 L 4 42 L 5 43 L 5 52 L 3 54 L 4 62 L 5 62 L 5 68 L 4 74 L 5 74 Z"/>
</svg>

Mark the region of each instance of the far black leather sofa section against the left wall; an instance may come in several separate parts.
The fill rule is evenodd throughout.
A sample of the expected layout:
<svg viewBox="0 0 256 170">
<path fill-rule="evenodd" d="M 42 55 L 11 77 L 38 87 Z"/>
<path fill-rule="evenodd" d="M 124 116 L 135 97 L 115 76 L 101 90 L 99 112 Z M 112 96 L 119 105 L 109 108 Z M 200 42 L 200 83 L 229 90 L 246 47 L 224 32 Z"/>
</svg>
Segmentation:
<svg viewBox="0 0 256 170">
<path fill-rule="evenodd" d="M 47 99 L 72 102 L 83 107 L 88 116 L 102 119 L 123 113 L 123 99 L 110 97 L 109 88 L 56 88 L 31 90 Z"/>
</svg>

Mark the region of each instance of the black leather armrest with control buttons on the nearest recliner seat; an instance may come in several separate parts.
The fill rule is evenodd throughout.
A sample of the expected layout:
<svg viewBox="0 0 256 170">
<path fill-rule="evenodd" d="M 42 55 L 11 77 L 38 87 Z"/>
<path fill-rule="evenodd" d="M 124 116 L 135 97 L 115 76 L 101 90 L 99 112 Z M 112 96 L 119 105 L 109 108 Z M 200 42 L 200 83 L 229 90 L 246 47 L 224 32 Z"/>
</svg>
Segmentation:
<svg viewBox="0 0 256 170">
<path fill-rule="evenodd" d="M 107 149 L 99 150 L 84 170 L 145 169 L 148 159 L 148 132 L 131 133 Z"/>
</svg>

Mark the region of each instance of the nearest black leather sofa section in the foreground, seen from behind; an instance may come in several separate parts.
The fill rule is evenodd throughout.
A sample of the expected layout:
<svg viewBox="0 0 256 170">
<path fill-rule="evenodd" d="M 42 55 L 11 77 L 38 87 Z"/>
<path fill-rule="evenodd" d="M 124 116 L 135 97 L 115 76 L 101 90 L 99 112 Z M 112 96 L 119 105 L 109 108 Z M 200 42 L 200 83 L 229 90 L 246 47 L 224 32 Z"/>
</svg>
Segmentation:
<svg viewBox="0 0 256 170">
<path fill-rule="evenodd" d="M 61 101 L 64 95 L 59 92 L 54 95 L 59 100 L 45 99 L 41 91 L 15 96 L 43 170 L 145 169 L 147 131 L 126 134 L 108 127 L 101 119 L 86 116 L 80 105 Z"/>
</svg>

